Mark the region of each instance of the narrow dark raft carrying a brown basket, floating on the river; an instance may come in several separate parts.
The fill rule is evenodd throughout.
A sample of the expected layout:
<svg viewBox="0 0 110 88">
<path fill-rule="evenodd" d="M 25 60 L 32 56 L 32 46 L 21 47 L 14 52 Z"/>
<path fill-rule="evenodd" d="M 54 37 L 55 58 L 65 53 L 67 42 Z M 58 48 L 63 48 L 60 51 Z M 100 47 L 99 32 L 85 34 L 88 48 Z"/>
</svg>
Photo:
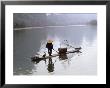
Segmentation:
<svg viewBox="0 0 110 88">
<path fill-rule="evenodd" d="M 39 62 L 41 60 L 45 60 L 45 59 L 56 57 L 56 56 L 60 57 L 60 56 L 63 56 L 63 55 L 69 54 L 69 53 L 81 53 L 80 49 L 81 49 L 81 47 L 75 48 L 75 50 L 72 50 L 72 51 L 67 51 L 67 48 L 58 48 L 57 54 L 53 54 L 52 56 L 45 56 L 45 57 L 39 57 L 39 56 L 35 55 L 34 57 L 31 57 L 31 60 Z"/>
</svg>

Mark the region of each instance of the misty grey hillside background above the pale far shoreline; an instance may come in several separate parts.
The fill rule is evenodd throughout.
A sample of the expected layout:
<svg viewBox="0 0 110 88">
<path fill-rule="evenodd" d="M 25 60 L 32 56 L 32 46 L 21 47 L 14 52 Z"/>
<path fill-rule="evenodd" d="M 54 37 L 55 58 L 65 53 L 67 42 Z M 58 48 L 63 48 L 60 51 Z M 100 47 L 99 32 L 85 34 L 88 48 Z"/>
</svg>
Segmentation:
<svg viewBox="0 0 110 88">
<path fill-rule="evenodd" d="M 81 13 L 14 13 L 14 28 L 97 25 L 96 14 Z"/>
</svg>

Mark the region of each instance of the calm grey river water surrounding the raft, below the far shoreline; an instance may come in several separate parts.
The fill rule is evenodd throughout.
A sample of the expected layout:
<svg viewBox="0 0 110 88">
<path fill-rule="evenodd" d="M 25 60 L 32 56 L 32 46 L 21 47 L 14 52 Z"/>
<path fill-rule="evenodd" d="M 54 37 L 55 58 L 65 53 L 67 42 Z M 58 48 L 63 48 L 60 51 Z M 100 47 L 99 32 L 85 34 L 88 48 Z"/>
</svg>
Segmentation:
<svg viewBox="0 0 110 88">
<path fill-rule="evenodd" d="M 32 62 L 36 53 L 47 53 L 46 41 L 53 47 L 82 47 L 82 53 L 71 53 L 65 58 L 53 57 Z M 53 51 L 54 53 L 57 53 Z M 56 26 L 14 30 L 14 75 L 97 75 L 97 26 Z"/>
</svg>

